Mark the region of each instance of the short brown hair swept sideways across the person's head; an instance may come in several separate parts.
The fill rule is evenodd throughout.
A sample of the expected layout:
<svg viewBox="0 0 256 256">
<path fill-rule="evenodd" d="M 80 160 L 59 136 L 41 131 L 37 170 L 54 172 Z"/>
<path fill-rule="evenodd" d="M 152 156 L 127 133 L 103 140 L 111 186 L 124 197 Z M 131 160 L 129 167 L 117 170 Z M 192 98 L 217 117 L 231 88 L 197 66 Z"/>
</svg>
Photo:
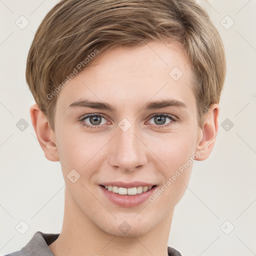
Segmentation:
<svg viewBox="0 0 256 256">
<path fill-rule="evenodd" d="M 202 127 L 209 105 L 219 102 L 226 64 L 217 29 L 206 11 L 193 0 L 57 3 L 36 30 L 26 63 L 29 89 L 50 127 L 54 130 L 56 89 L 61 88 L 59 85 L 63 85 L 77 63 L 84 63 L 95 49 L 135 47 L 150 40 L 176 41 L 183 47 L 193 71 L 192 89 L 198 125 Z M 52 91 L 56 92 L 54 97 Z"/>
</svg>

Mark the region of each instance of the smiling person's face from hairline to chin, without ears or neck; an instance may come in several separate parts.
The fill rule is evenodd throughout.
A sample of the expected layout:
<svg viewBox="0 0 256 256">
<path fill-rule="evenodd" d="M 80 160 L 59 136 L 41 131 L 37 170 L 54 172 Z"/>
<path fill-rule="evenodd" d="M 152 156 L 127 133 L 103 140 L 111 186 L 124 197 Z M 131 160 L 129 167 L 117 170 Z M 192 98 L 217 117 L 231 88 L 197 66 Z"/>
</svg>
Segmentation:
<svg viewBox="0 0 256 256">
<path fill-rule="evenodd" d="M 62 88 L 54 136 L 70 211 L 118 236 L 144 234 L 170 217 L 200 139 L 191 77 L 178 44 L 150 42 L 98 55 Z M 102 185 L 135 186 L 138 194 Z M 141 193 L 146 185 L 154 186 Z"/>
</svg>

